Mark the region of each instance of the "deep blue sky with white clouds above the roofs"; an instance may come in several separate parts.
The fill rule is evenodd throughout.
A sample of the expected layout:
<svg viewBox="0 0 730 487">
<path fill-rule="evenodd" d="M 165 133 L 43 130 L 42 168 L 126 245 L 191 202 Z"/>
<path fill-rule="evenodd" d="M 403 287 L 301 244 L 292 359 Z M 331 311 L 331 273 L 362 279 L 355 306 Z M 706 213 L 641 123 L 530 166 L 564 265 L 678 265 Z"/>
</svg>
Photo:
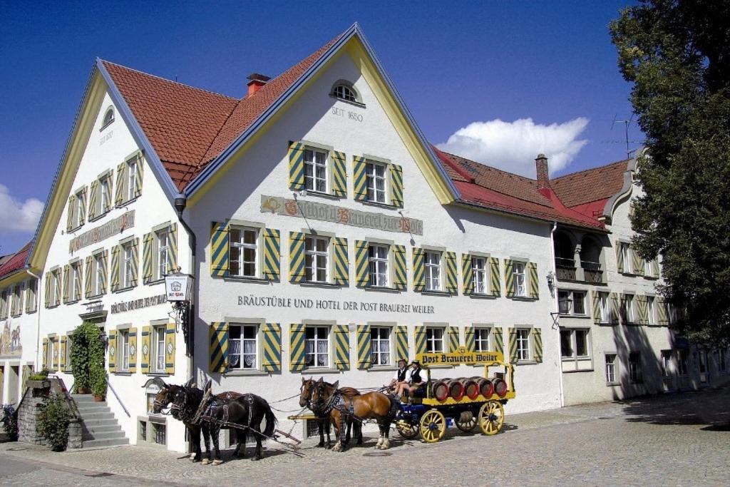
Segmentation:
<svg viewBox="0 0 730 487">
<path fill-rule="evenodd" d="M 625 157 L 607 24 L 629 3 L 0 0 L 0 255 L 33 234 L 97 56 L 240 97 L 358 21 L 431 142 L 560 175 Z"/>
</svg>

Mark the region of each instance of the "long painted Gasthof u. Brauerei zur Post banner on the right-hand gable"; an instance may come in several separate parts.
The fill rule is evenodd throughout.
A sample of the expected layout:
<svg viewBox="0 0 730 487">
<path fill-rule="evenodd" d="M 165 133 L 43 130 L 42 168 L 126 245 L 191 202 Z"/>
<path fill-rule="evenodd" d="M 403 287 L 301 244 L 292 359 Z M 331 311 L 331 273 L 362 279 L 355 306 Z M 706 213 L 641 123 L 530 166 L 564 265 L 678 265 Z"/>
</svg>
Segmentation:
<svg viewBox="0 0 730 487">
<path fill-rule="evenodd" d="M 364 229 L 397 231 L 423 235 L 423 221 L 415 218 L 381 215 L 380 213 L 350 210 L 334 204 L 305 202 L 279 196 L 261 195 L 261 212 L 277 215 L 299 216 L 312 220 L 331 221 Z"/>
</svg>

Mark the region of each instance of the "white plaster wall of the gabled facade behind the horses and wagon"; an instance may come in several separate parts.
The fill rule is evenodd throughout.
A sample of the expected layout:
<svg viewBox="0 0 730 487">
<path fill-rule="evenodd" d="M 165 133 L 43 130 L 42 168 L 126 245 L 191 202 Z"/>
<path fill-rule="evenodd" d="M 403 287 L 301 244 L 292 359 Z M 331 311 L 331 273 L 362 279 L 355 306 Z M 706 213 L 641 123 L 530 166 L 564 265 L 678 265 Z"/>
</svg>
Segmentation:
<svg viewBox="0 0 730 487">
<path fill-rule="evenodd" d="M 350 80 L 361 93 L 366 108 L 353 107 L 342 101 L 335 101 L 328 93 L 331 85 L 340 79 Z M 334 115 L 332 108 L 345 111 L 345 117 Z M 363 116 L 361 123 L 347 118 L 347 112 Z M 415 236 L 415 245 L 430 245 L 456 251 L 459 259 L 459 295 L 426 296 L 412 291 L 412 258 L 408 234 L 361 229 L 339 223 L 310 221 L 312 229 L 329 232 L 338 237 L 347 237 L 350 257 L 350 285 L 344 288 L 321 288 L 311 285 L 293 285 L 288 282 L 288 234 L 289 231 L 307 229 L 307 222 L 301 218 L 262 213 L 261 195 L 286 196 L 288 190 L 288 141 L 307 140 L 330 145 L 347 154 L 348 196 L 332 201 L 321 196 L 309 195 L 304 200 L 336 204 L 354 210 L 364 210 L 397 216 L 396 210 L 373 207 L 353 199 L 352 160 L 355 155 L 369 154 L 388 158 L 403 166 L 404 209 L 408 218 L 417 218 L 423 223 L 423 236 Z M 550 262 L 550 226 L 483 212 L 443 207 L 431 192 L 426 179 L 408 152 L 399 134 L 393 129 L 388 116 L 377 102 L 366 81 L 347 55 L 342 55 L 324 72 L 307 93 L 245 153 L 234 161 L 234 166 L 222 177 L 212 191 L 205 194 L 191 209 L 193 231 L 198 235 L 199 264 L 199 322 L 196 325 L 196 369 L 200 380 L 208 375 L 209 352 L 207 348 L 208 325 L 226 318 L 265 319 L 281 323 L 283 335 L 281 374 L 220 377 L 213 374 L 215 391 L 232 390 L 252 392 L 276 401 L 299 391 L 301 377 L 324 375 L 326 380 L 339 380 L 341 385 L 370 388 L 387 382 L 392 371 L 375 372 L 356 369 L 356 337 L 350 333 L 350 371 L 323 374 L 311 371 L 289 372 L 289 323 L 305 320 L 331 320 L 337 323 L 391 322 L 409 326 L 410 356 L 413 358 L 414 340 L 412 326 L 439 322 L 458 326 L 461 343 L 464 342 L 464 327 L 472 323 L 493 323 L 501 326 L 504 345 L 507 348 L 507 327 L 528 324 L 542 328 L 544 362 L 542 364 L 520 365 L 515 373 L 518 397 L 507 405 L 507 413 L 558 407 L 559 369 L 558 334 L 550 327 L 552 300 L 545 275 L 552 267 Z M 210 248 L 207 248 L 210 224 L 226 219 L 263 223 L 281 232 L 281 273 L 279 283 L 245 282 L 210 277 Z M 408 291 L 402 293 L 364 291 L 356 288 L 354 279 L 354 240 L 378 238 L 405 245 L 407 250 Z M 516 301 L 504 297 L 496 299 L 473 299 L 461 294 L 461 253 L 478 251 L 502 258 L 526 257 L 538 264 L 540 299 Z M 501 265 L 501 273 L 503 267 Z M 364 312 L 354 310 L 297 310 L 291 308 L 247 307 L 238 304 L 239 296 L 280 296 L 301 299 L 332 299 L 339 302 L 377 302 L 425 304 L 434 307 L 433 314 L 404 314 L 396 312 Z M 461 377 L 480 375 L 481 369 L 459 367 L 456 370 L 434 370 L 434 377 Z M 276 404 L 279 409 L 298 408 L 296 399 Z M 288 431 L 291 423 L 285 414 L 278 414 L 282 429 Z M 295 433 L 301 434 L 299 429 Z"/>
</svg>

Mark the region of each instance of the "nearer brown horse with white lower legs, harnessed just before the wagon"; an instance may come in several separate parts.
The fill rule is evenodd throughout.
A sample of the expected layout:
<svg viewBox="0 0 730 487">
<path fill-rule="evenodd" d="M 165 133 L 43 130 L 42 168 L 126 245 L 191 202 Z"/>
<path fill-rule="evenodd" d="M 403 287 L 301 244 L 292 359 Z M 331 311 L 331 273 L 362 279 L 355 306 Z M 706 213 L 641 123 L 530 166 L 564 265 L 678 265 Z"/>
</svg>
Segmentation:
<svg viewBox="0 0 730 487">
<path fill-rule="evenodd" d="M 380 392 L 345 396 L 337 386 L 339 386 L 339 380 L 330 385 L 320 379 L 315 383 L 314 391 L 312 391 L 312 405 L 320 411 L 327 412 L 337 430 L 338 440 L 332 450 L 342 451 L 347 446 L 343 431 L 345 419 L 356 422 L 374 419 L 380 429 L 380 437 L 375 448 L 378 450 L 391 448 L 389 438 L 391 422 L 400 409 L 399 404 Z"/>
</svg>

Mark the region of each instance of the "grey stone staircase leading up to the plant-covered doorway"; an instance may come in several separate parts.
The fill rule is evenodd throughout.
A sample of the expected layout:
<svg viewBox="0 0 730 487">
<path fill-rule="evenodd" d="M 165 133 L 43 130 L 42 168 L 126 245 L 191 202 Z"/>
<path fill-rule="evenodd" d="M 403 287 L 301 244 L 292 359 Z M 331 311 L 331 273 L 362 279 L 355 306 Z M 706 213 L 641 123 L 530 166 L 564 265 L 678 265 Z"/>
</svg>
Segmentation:
<svg viewBox="0 0 730 487">
<path fill-rule="evenodd" d="M 95 402 L 91 394 L 72 394 L 72 398 L 81 416 L 82 448 L 129 444 L 107 402 Z"/>
</svg>

